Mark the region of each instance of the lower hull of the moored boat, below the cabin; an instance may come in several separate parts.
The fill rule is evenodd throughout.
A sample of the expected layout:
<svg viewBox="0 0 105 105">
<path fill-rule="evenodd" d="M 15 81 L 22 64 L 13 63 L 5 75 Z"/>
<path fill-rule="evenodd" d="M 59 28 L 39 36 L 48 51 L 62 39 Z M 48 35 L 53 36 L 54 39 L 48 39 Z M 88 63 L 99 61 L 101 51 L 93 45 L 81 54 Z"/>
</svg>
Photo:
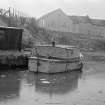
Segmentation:
<svg viewBox="0 0 105 105">
<path fill-rule="evenodd" d="M 81 70 L 82 62 L 78 60 L 56 60 L 38 57 L 29 57 L 29 71 L 43 73 L 68 72 L 72 70 Z"/>
</svg>

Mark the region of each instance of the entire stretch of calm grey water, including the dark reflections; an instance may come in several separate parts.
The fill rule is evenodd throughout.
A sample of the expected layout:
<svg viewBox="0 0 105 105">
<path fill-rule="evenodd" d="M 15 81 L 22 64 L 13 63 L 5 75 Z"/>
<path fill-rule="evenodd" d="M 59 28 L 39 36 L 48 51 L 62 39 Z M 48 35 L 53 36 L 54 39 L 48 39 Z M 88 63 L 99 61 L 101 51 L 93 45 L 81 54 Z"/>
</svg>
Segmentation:
<svg viewBox="0 0 105 105">
<path fill-rule="evenodd" d="M 53 75 L 1 71 L 0 105 L 105 105 L 105 63 Z"/>
</svg>

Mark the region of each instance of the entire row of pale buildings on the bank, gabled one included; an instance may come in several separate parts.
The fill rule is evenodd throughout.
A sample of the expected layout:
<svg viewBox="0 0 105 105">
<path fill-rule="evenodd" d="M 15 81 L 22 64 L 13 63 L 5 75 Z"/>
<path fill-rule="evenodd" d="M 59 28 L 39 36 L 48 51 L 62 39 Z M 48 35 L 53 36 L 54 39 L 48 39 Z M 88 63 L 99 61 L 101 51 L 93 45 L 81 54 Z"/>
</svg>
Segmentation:
<svg viewBox="0 0 105 105">
<path fill-rule="evenodd" d="M 91 19 L 89 16 L 68 16 L 61 9 L 42 16 L 37 22 L 40 27 L 52 31 L 105 36 L 105 20 Z"/>
</svg>

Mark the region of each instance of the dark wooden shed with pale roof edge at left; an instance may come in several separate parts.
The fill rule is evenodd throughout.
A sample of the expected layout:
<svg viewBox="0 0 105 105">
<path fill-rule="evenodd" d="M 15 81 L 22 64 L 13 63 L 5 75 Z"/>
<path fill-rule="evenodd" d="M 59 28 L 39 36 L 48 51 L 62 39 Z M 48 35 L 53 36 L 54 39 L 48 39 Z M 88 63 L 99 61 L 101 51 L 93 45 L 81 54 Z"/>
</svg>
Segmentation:
<svg viewBox="0 0 105 105">
<path fill-rule="evenodd" d="M 0 50 L 21 50 L 23 29 L 0 26 Z"/>
</svg>

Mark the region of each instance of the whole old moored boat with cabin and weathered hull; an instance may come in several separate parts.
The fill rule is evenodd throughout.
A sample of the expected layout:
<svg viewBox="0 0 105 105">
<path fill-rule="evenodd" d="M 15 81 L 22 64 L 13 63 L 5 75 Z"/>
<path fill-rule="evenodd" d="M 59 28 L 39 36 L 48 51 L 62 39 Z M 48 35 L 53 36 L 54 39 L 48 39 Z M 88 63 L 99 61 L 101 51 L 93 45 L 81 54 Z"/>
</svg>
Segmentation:
<svg viewBox="0 0 105 105">
<path fill-rule="evenodd" d="M 28 58 L 29 71 L 59 73 L 82 70 L 83 55 L 76 46 L 38 45 Z"/>
</svg>

